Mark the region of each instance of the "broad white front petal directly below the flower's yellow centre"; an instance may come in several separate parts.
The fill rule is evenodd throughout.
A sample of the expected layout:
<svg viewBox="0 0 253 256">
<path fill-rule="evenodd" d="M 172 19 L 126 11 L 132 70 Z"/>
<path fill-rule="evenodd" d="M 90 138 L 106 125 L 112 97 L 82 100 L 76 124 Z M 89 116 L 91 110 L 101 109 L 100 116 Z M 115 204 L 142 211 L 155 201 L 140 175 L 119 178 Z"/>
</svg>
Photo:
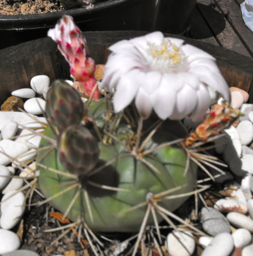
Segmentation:
<svg viewBox="0 0 253 256">
<path fill-rule="evenodd" d="M 171 114 L 176 98 L 175 89 L 170 88 L 169 83 L 166 78 L 162 77 L 159 88 L 150 95 L 154 111 L 163 120 Z"/>
</svg>

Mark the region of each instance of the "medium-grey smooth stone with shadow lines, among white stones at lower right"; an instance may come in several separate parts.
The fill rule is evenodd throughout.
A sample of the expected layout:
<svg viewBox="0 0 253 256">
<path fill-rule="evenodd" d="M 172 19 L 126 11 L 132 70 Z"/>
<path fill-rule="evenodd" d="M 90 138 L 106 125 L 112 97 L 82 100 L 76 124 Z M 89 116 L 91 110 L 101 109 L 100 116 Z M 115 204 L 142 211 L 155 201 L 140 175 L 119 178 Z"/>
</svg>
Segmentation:
<svg viewBox="0 0 253 256">
<path fill-rule="evenodd" d="M 230 224 L 222 213 L 212 207 L 203 207 L 201 209 L 202 228 L 208 235 L 216 236 L 220 233 L 230 233 Z"/>
</svg>

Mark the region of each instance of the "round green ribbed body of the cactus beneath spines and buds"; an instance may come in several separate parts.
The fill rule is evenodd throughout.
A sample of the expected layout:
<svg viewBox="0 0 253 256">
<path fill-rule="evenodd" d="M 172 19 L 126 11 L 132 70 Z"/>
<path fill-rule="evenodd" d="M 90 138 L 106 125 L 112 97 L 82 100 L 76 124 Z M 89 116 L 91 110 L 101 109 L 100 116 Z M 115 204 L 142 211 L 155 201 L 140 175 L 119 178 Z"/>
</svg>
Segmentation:
<svg viewBox="0 0 253 256">
<path fill-rule="evenodd" d="M 96 106 L 95 109 L 97 111 L 99 107 Z M 93 111 L 93 116 L 98 118 L 98 113 L 99 111 L 96 114 L 95 111 Z M 176 122 L 174 121 L 173 124 L 176 124 Z M 173 128 L 175 129 L 175 127 Z M 124 141 L 126 133 L 129 131 L 130 129 L 127 128 L 127 125 L 123 124 L 122 127 L 118 129 L 118 138 Z M 53 133 L 49 128 L 45 129 L 44 135 L 53 137 Z M 146 145 L 146 148 L 151 148 L 167 142 L 170 136 L 171 134 L 167 132 L 167 126 L 165 125 L 164 127 L 159 128 Z M 50 143 L 47 140 L 42 138 L 40 147 L 42 148 L 49 144 Z M 99 143 L 99 149 L 100 155 L 96 167 L 115 159 L 123 153 L 128 153 L 128 151 L 117 142 L 114 142 L 111 145 Z M 158 174 L 142 161 L 137 160 L 134 156 L 118 157 L 112 164 L 90 176 L 89 180 L 101 185 L 128 189 L 130 192 L 112 191 L 91 186 L 86 183 L 86 178 L 83 178 L 82 186 L 86 187 L 86 191 L 89 195 L 94 220 L 91 221 L 90 219 L 83 191 L 79 194 L 67 217 L 72 221 L 76 221 L 78 216 L 82 216 L 86 221 L 86 224 L 93 231 L 137 232 L 143 221 L 147 206 L 126 213 L 124 213 L 124 211 L 127 211 L 139 203 L 145 202 L 147 193 L 151 192 L 157 194 L 182 185 L 186 186 L 171 194 L 182 194 L 194 189 L 197 167 L 191 162 L 186 176 L 183 176 L 186 154 L 181 148 L 176 146 L 166 146 L 153 151 L 143 158 L 158 169 L 160 173 Z M 46 156 L 45 151 L 42 150 L 38 153 L 37 162 L 40 162 L 47 167 L 67 172 L 67 170 L 62 167 L 57 157 L 56 150 L 51 151 Z M 75 181 L 39 166 L 38 169 L 40 169 L 39 187 L 47 198 L 67 188 L 67 186 L 58 185 Z M 50 187 L 54 188 L 50 189 Z M 51 205 L 64 213 L 77 190 L 78 187 L 75 187 L 67 193 L 57 196 L 50 201 Z M 158 202 L 158 204 L 169 211 L 174 211 L 186 199 L 187 197 L 181 197 Z M 123 212 L 123 214 L 119 214 L 121 212 Z M 158 213 L 157 218 L 159 221 L 162 220 Z M 148 220 L 148 224 L 153 224 L 151 216 Z"/>
</svg>

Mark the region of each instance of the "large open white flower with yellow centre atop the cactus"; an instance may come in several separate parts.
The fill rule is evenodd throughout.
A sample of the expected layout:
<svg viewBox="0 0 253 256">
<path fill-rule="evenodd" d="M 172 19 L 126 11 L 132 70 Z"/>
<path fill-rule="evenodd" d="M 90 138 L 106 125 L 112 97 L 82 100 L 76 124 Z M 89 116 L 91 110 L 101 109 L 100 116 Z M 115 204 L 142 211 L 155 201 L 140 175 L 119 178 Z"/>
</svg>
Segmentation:
<svg viewBox="0 0 253 256">
<path fill-rule="evenodd" d="M 215 58 L 182 39 L 159 31 L 110 46 L 102 87 L 113 94 L 115 112 L 135 99 L 145 119 L 152 112 L 165 120 L 203 118 L 219 97 L 230 91 Z"/>
</svg>

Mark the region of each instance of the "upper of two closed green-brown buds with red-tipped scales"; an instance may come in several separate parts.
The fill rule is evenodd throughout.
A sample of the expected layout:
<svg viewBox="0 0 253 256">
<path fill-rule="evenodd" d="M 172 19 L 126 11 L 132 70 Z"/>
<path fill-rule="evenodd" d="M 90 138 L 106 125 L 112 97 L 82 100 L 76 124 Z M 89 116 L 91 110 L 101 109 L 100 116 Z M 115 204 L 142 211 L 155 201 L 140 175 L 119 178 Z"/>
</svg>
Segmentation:
<svg viewBox="0 0 253 256">
<path fill-rule="evenodd" d="M 63 80 L 55 80 L 47 92 L 46 114 L 60 129 L 79 124 L 84 105 L 78 91 Z"/>
</svg>

